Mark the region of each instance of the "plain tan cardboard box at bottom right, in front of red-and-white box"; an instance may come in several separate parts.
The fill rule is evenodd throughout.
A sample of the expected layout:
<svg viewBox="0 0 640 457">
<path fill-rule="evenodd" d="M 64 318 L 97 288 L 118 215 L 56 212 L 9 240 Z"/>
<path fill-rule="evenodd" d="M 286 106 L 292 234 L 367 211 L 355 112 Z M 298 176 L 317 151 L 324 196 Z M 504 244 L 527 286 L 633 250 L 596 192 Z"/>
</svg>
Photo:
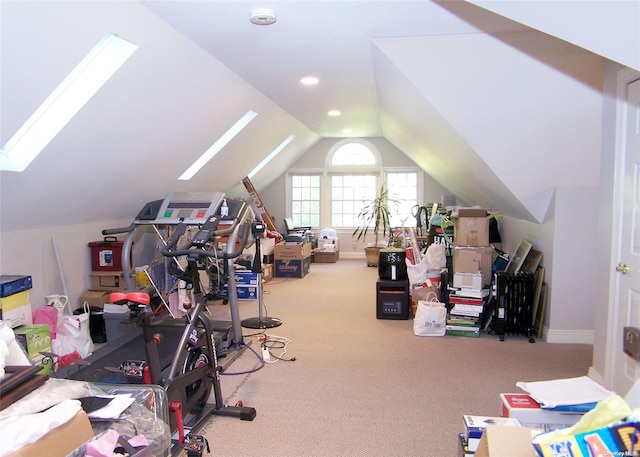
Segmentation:
<svg viewBox="0 0 640 457">
<path fill-rule="evenodd" d="M 529 427 L 487 425 L 475 457 L 537 457 L 531 440 L 539 433 Z"/>
</svg>

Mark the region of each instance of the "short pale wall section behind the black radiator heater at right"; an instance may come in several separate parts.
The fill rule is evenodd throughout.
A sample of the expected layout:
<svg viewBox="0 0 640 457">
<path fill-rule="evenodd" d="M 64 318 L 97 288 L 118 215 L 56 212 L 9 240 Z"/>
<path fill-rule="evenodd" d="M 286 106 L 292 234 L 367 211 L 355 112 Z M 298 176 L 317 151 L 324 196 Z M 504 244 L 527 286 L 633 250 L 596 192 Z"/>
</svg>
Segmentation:
<svg viewBox="0 0 640 457">
<path fill-rule="evenodd" d="M 544 339 L 553 343 L 593 342 L 599 287 L 596 271 L 596 187 L 556 188 L 547 222 L 500 217 L 502 250 L 512 254 L 526 239 L 542 251 L 549 284 Z M 499 209 L 499 208 L 498 208 Z"/>
</svg>

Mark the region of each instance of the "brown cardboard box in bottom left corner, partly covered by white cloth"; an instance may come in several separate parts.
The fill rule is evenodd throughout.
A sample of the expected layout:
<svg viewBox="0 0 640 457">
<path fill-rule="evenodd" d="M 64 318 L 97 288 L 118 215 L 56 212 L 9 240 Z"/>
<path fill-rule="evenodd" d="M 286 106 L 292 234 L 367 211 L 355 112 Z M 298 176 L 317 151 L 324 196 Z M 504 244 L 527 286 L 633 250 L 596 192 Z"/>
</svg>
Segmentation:
<svg viewBox="0 0 640 457">
<path fill-rule="evenodd" d="M 49 431 L 33 444 L 28 444 L 11 457 L 42 457 L 43 455 L 68 455 L 93 438 L 93 429 L 87 413 L 79 411 L 73 419 Z"/>
</svg>

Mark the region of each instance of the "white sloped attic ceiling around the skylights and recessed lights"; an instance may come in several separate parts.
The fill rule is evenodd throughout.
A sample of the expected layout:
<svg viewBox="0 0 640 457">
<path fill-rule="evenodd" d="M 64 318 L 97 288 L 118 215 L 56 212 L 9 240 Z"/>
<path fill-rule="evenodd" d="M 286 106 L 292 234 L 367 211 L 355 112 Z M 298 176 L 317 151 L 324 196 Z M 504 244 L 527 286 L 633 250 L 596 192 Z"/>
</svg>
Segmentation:
<svg viewBox="0 0 640 457">
<path fill-rule="evenodd" d="M 277 22 L 251 24 L 258 7 Z M 629 11 L 610 13 L 603 23 Z M 589 41 L 607 34 L 573 25 Z M 467 204 L 541 222 L 557 186 L 597 185 L 602 56 L 621 45 L 589 51 L 579 34 L 569 44 L 539 30 L 458 0 L 2 0 L 2 144 L 105 33 L 140 48 L 24 173 L 0 172 L 0 231 L 131 218 L 171 191 L 233 191 L 296 135 L 253 178 L 260 190 L 344 128 L 386 138 Z M 302 87 L 308 74 L 320 84 Z M 178 182 L 250 109 L 247 129 Z"/>
</svg>

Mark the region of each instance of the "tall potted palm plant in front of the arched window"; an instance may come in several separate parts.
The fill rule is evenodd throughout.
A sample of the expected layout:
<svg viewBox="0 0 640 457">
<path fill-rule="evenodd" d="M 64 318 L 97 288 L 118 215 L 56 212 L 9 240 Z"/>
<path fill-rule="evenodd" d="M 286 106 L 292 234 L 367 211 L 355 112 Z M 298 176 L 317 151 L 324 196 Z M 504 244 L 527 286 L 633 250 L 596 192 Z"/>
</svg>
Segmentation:
<svg viewBox="0 0 640 457">
<path fill-rule="evenodd" d="M 389 196 L 389 189 L 383 184 L 376 196 L 363 202 L 364 206 L 358 213 L 358 226 L 351 234 L 358 242 L 365 241 L 368 233 L 373 233 L 373 244 L 365 246 L 367 266 L 378 266 L 380 249 L 389 245 L 389 238 L 393 230 L 391 214 L 397 212 L 398 201 Z"/>
</svg>

